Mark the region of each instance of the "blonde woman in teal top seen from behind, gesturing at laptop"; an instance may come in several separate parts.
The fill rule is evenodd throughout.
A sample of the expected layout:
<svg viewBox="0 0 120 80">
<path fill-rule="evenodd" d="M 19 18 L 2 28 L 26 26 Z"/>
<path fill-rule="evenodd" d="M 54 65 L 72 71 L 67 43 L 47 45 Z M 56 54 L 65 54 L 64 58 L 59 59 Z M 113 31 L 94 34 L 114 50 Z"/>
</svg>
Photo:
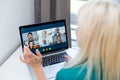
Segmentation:
<svg viewBox="0 0 120 80">
<path fill-rule="evenodd" d="M 119 4 L 110 0 L 89 2 L 80 9 L 78 22 L 81 54 L 57 73 L 56 80 L 120 80 Z M 38 80 L 45 80 L 39 51 L 38 56 L 31 55 L 25 47 L 24 53 L 28 59 L 21 60 L 32 66 Z"/>
</svg>

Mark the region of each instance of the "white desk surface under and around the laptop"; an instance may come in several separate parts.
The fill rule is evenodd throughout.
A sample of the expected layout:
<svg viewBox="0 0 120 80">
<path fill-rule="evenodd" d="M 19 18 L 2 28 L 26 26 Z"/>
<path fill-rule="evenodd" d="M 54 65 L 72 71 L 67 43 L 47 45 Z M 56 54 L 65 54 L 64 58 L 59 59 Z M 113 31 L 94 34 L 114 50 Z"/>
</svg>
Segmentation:
<svg viewBox="0 0 120 80">
<path fill-rule="evenodd" d="M 69 49 L 68 54 L 75 57 L 77 50 Z M 1 80 L 32 80 L 26 64 L 19 60 L 19 55 L 22 55 L 21 47 L 13 53 L 13 55 L 0 67 Z M 49 79 L 54 80 L 55 78 Z"/>
</svg>

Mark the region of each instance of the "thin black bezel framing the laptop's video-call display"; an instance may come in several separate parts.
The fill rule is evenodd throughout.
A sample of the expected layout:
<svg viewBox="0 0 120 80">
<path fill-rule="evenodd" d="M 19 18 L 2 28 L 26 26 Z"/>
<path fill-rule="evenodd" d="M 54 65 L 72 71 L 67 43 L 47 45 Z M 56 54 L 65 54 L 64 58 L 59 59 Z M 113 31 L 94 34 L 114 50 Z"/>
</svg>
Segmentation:
<svg viewBox="0 0 120 80">
<path fill-rule="evenodd" d="M 64 22 L 64 23 L 65 23 L 65 32 L 66 32 L 66 43 L 67 43 L 67 46 L 66 46 L 66 47 L 63 47 L 63 48 L 55 49 L 55 50 L 50 50 L 50 51 L 47 51 L 47 52 L 42 52 L 41 54 L 49 53 L 49 52 L 57 52 L 57 51 L 60 51 L 60 50 L 68 49 L 68 35 L 67 35 L 68 33 L 67 33 L 67 26 L 66 26 L 66 21 L 65 21 L 65 19 L 55 20 L 55 21 L 49 21 L 49 22 L 44 22 L 44 23 L 37 23 L 37 24 L 30 24 L 30 25 L 20 26 L 20 27 L 19 27 L 19 32 L 20 32 L 22 49 L 23 49 L 23 47 L 24 47 L 24 44 L 23 44 L 23 37 L 22 37 L 21 29 L 40 27 L 40 26 L 42 26 L 42 25 L 47 25 L 47 24 L 52 24 L 52 23 L 59 23 L 59 22 Z"/>
</svg>

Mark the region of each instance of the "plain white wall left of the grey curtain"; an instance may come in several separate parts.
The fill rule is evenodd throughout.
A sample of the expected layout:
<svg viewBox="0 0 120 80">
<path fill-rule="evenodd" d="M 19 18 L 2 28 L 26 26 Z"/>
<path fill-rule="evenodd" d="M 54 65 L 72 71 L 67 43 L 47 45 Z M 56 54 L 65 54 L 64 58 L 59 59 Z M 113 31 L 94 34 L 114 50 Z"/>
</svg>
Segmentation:
<svg viewBox="0 0 120 80">
<path fill-rule="evenodd" d="M 34 23 L 34 0 L 0 0 L 0 65 L 20 45 L 21 25 Z"/>
</svg>

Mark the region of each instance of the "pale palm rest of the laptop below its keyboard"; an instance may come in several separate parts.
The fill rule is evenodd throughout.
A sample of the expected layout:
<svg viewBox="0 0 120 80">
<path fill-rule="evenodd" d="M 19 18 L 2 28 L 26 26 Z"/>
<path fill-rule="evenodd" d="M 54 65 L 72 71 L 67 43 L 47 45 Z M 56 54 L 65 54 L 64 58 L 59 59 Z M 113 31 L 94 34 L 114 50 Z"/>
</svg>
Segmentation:
<svg viewBox="0 0 120 80">
<path fill-rule="evenodd" d="M 64 66 L 64 64 L 65 62 L 62 62 L 44 67 L 43 69 L 47 79 L 55 77 L 57 72 Z"/>
</svg>

